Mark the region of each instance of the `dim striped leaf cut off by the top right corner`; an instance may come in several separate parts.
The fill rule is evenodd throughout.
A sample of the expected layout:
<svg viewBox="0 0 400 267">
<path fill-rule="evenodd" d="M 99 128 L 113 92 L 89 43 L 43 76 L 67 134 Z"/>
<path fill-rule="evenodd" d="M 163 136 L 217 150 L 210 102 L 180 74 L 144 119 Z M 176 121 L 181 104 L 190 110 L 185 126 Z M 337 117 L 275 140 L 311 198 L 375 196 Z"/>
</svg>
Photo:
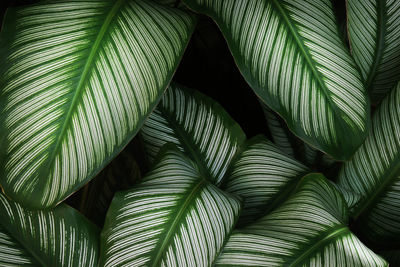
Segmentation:
<svg viewBox="0 0 400 267">
<path fill-rule="evenodd" d="M 400 2 L 348 0 L 352 53 L 372 101 L 380 101 L 400 80 Z"/>
</svg>

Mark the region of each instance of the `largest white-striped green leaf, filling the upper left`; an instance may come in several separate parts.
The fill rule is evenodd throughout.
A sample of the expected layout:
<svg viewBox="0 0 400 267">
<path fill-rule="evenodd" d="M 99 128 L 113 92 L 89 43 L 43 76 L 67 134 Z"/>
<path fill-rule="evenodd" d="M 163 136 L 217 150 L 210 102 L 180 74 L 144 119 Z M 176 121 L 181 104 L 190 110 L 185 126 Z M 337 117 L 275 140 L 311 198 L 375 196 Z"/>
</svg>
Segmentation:
<svg viewBox="0 0 400 267">
<path fill-rule="evenodd" d="M 0 35 L 0 183 L 54 206 L 132 139 L 194 27 L 144 0 L 44 1 L 9 9 Z"/>
</svg>

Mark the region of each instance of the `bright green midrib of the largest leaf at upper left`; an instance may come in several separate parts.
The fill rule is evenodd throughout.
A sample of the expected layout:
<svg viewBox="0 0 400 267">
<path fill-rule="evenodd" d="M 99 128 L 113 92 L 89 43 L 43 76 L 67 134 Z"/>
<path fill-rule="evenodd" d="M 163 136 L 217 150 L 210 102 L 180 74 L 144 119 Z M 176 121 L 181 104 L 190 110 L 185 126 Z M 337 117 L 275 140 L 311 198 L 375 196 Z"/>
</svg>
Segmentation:
<svg viewBox="0 0 400 267">
<path fill-rule="evenodd" d="M 59 153 L 59 150 L 61 148 L 61 144 L 64 141 L 64 137 L 66 134 L 66 131 L 68 130 L 68 127 L 70 125 L 70 121 L 72 119 L 72 116 L 75 112 L 75 108 L 79 103 L 80 97 L 82 95 L 82 91 L 84 90 L 84 87 L 86 85 L 86 82 L 89 78 L 89 74 L 90 74 L 90 70 L 92 69 L 92 65 L 93 62 L 95 60 L 95 56 L 97 55 L 99 49 L 100 49 L 100 45 L 101 42 L 104 39 L 104 36 L 106 35 L 108 28 L 111 25 L 111 22 L 114 18 L 114 16 L 119 12 L 120 7 L 122 6 L 122 4 L 125 2 L 125 0 L 116 0 L 116 2 L 114 3 L 114 5 L 112 6 L 112 8 L 110 9 L 109 13 L 107 14 L 106 19 L 104 20 L 103 25 L 100 28 L 100 31 L 96 37 L 96 40 L 90 50 L 88 59 L 86 60 L 85 66 L 82 70 L 82 74 L 79 78 L 79 82 L 78 85 L 75 89 L 74 92 L 74 96 L 71 100 L 70 106 L 68 107 L 68 112 L 66 113 L 66 115 L 63 118 L 63 124 L 62 127 L 59 128 L 59 133 L 56 135 L 56 141 L 53 144 L 54 149 L 52 150 L 51 155 L 47 158 L 47 163 L 43 164 L 43 168 L 41 169 L 41 175 L 39 176 L 44 176 L 43 172 L 48 172 L 49 170 L 51 170 L 51 168 L 48 168 L 49 165 L 53 165 L 54 164 L 54 158 L 55 156 Z M 47 176 L 47 175 L 46 175 Z"/>
</svg>

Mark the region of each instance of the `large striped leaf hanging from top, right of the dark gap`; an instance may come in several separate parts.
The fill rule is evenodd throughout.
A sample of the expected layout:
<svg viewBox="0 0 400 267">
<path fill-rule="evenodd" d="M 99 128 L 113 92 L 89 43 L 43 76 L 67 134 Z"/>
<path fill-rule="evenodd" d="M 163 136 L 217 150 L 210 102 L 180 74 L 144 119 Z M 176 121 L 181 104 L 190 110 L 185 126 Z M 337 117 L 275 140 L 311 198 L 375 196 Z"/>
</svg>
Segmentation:
<svg viewBox="0 0 400 267">
<path fill-rule="evenodd" d="M 211 16 L 256 94 L 338 160 L 363 143 L 369 100 L 329 0 L 183 0 Z"/>
</svg>

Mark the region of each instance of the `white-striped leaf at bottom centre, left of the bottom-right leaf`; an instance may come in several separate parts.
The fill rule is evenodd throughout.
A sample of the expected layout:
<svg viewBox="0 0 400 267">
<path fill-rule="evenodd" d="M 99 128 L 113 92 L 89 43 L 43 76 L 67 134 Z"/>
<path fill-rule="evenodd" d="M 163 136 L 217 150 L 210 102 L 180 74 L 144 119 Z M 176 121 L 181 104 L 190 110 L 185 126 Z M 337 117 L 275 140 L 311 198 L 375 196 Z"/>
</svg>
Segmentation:
<svg viewBox="0 0 400 267">
<path fill-rule="evenodd" d="M 160 153 L 141 184 L 114 197 L 101 234 L 101 266 L 211 266 L 231 232 L 238 199 L 177 148 Z"/>
</svg>

